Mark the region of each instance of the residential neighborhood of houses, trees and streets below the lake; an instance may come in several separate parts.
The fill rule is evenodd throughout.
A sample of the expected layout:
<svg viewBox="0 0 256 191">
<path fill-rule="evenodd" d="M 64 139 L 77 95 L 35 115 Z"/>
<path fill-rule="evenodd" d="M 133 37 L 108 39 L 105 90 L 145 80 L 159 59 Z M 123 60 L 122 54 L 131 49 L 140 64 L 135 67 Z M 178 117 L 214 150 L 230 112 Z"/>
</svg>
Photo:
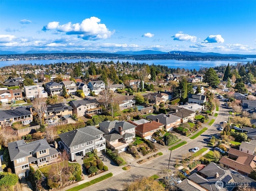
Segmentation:
<svg viewBox="0 0 256 191">
<path fill-rule="evenodd" d="M 28 191 L 91 181 L 91 190 L 122 190 L 134 175 L 166 190 L 218 191 L 218 181 L 228 191 L 240 191 L 237 182 L 256 187 L 256 89 L 234 79 L 230 85 L 218 68 L 154 75 L 124 65 L 122 75 L 106 78 L 91 70 L 118 71 L 116 64 L 65 75 L 48 67 L 2 81 L 0 171 Z M 229 79 L 242 81 L 244 66 L 236 67 Z"/>
</svg>

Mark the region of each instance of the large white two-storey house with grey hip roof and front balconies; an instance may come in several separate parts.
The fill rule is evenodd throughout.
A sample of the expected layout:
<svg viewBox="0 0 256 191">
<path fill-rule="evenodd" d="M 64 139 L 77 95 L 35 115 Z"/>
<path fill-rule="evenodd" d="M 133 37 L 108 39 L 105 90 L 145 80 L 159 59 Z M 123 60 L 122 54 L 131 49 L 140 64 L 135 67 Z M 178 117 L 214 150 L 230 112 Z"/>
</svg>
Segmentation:
<svg viewBox="0 0 256 191">
<path fill-rule="evenodd" d="M 77 155 L 84 156 L 96 149 L 98 152 L 106 150 L 106 139 L 103 132 L 94 126 L 87 126 L 59 134 L 61 147 L 70 155 L 70 160 Z"/>
</svg>

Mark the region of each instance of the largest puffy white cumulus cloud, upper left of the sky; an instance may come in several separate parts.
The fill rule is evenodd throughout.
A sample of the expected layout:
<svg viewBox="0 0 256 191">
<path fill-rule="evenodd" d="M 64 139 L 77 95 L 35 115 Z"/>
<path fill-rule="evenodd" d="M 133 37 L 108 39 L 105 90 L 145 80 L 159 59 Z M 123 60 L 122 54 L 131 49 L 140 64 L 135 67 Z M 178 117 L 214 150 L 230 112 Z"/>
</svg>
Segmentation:
<svg viewBox="0 0 256 191">
<path fill-rule="evenodd" d="M 85 40 L 107 39 L 114 33 L 109 31 L 105 24 L 100 24 L 100 19 L 97 17 L 86 18 L 81 23 L 75 24 L 68 22 L 60 25 L 60 22 L 49 22 L 42 30 L 66 32 L 67 35 L 77 35 Z"/>
</svg>

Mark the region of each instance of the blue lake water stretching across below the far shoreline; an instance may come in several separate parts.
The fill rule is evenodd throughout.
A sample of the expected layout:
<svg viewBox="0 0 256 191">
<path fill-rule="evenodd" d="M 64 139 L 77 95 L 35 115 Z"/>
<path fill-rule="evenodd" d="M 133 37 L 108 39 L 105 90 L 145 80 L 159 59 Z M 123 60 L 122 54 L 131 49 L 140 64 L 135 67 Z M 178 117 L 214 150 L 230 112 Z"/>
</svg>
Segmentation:
<svg viewBox="0 0 256 191">
<path fill-rule="evenodd" d="M 205 61 L 181 61 L 181 60 L 126 60 L 126 59 L 63 59 L 63 60 L 20 60 L 20 61 L 0 61 L 0 67 L 9 66 L 9 65 L 17 65 L 17 64 L 50 64 L 50 63 L 75 63 L 78 61 L 87 62 L 87 61 L 113 61 L 116 63 L 119 60 L 120 63 L 122 62 L 129 62 L 129 63 L 146 63 L 151 65 L 165 65 L 169 68 L 184 68 L 184 69 L 196 69 L 199 70 L 202 67 L 215 67 L 220 65 L 236 65 L 237 63 L 246 64 L 248 61 L 252 62 L 256 60 L 256 58 L 248 58 L 248 59 L 241 59 L 241 60 L 205 60 Z"/>
</svg>

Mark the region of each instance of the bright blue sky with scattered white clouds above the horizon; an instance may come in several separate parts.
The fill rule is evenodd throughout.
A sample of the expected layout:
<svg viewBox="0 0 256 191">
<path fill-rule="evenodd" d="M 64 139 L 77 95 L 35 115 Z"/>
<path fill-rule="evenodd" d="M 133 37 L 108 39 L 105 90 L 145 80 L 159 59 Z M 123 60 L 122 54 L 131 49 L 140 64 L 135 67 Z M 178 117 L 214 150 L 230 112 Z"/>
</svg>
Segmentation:
<svg viewBox="0 0 256 191">
<path fill-rule="evenodd" d="M 256 54 L 256 0 L 1 0 L 0 50 Z"/>
</svg>

